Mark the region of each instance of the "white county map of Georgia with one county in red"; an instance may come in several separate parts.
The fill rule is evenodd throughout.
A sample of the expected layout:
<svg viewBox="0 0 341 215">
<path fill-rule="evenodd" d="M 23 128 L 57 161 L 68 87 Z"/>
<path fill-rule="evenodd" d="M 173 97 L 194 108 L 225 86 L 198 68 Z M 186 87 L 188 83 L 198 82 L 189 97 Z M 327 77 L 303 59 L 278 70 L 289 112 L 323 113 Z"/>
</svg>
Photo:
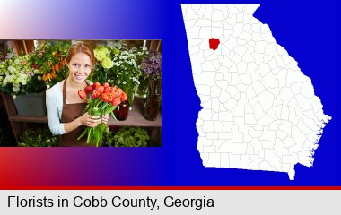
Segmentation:
<svg viewBox="0 0 341 215">
<path fill-rule="evenodd" d="M 311 167 L 331 119 L 308 76 L 253 16 L 260 4 L 182 4 L 193 80 L 203 107 L 205 167 L 285 172 Z"/>
</svg>

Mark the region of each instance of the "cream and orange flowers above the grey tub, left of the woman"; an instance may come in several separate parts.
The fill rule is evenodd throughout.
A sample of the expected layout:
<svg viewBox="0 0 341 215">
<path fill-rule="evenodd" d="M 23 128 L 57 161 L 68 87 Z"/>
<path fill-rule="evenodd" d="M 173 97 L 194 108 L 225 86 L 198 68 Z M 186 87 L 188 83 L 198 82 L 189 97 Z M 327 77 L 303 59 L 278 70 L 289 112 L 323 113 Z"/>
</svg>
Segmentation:
<svg viewBox="0 0 341 215">
<path fill-rule="evenodd" d="M 17 95 L 39 93 L 66 78 L 66 42 L 48 44 L 27 55 L 0 62 L 0 90 Z"/>
</svg>

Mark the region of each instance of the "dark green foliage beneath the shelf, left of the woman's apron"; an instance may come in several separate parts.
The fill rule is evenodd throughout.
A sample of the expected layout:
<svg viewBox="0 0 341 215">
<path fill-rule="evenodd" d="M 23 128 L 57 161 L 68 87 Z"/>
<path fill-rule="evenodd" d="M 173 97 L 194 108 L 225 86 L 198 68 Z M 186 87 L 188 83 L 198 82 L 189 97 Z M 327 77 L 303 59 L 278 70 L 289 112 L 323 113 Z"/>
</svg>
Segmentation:
<svg viewBox="0 0 341 215">
<path fill-rule="evenodd" d="M 18 142 L 22 147 L 54 147 L 57 146 L 59 138 L 54 136 L 48 126 L 27 129 Z"/>
</svg>

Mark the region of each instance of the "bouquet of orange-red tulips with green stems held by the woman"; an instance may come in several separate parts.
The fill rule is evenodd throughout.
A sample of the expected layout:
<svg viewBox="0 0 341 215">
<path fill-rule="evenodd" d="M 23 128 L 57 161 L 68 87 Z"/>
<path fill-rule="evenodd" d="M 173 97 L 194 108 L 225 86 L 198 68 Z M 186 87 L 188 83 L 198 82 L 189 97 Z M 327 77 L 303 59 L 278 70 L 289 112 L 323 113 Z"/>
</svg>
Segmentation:
<svg viewBox="0 0 341 215">
<path fill-rule="evenodd" d="M 87 99 L 87 94 L 91 94 Z M 110 87 L 108 82 L 101 85 L 100 82 L 94 82 L 84 90 L 79 90 L 78 95 L 82 99 L 87 99 L 88 104 L 83 113 L 88 112 L 91 116 L 102 116 L 110 114 L 114 119 L 113 111 L 118 107 L 121 101 L 127 100 L 127 94 L 120 88 Z M 96 147 L 101 146 L 102 134 L 107 132 L 107 125 L 101 122 L 96 127 L 86 127 L 85 131 L 78 137 L 80 140 L 84 135 L 87 136 L 86 142 Z"/>
</svg>

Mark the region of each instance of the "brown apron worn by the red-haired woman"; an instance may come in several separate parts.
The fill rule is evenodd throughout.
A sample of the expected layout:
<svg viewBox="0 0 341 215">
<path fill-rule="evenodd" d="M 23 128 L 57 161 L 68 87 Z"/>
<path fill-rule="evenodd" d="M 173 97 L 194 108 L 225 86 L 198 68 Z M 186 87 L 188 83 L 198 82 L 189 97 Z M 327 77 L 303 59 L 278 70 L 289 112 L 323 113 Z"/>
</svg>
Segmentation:
<svg viewBox="0 0 341 215">
<path fill-rule="evenodd" d="M 88 82 L 86 82 L 89 85 Z M 74 119 L 82 116 L 83 110 L 87 103 L 66 104 L 66 81 L 63 86 L 63 110 L 62 110 L 62 123 L 69 123 Z M 60 136 L 59 146 L 92 146 L 86 143 L 87 135 L 83 136 L 80 140 L 77 138 L 83 133 L 83 126 L 79 126 L 74 131 L 63 134 Z"/>
</svg>

